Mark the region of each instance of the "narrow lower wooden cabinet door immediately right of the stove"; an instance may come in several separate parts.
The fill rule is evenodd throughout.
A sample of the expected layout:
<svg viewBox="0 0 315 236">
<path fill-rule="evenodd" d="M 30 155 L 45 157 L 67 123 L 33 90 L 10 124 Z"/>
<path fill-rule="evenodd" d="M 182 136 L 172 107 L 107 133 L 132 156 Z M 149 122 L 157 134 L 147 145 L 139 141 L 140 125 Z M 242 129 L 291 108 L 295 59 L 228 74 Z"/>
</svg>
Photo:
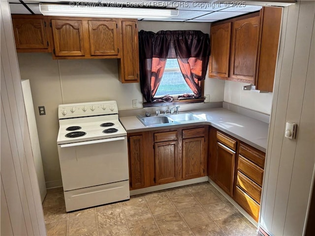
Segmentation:
<svg viewBox="0 0 315 236">
<path fill-rule="evenodd" d="M 129 137 L 129 176 L 132 189 L 141 188 L 145 185 L 143 136 Z"/>
</svg>

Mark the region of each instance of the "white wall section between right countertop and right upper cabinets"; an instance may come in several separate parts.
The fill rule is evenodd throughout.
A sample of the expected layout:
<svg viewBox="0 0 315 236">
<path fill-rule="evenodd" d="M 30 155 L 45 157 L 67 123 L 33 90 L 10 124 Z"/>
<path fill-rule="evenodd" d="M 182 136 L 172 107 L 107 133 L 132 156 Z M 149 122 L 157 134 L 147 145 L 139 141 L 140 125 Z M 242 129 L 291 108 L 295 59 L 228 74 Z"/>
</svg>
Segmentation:
<svg viewBox="0 0 315 236">
<path fill-rule="evenodd" d="M 224 102 L 229 102 L 257 112 L 270 115 L 272 105 L 272 92 L 259 93 L 257 91 L 243 90 L 246 83 L 225 81 Z"/>
</svg>

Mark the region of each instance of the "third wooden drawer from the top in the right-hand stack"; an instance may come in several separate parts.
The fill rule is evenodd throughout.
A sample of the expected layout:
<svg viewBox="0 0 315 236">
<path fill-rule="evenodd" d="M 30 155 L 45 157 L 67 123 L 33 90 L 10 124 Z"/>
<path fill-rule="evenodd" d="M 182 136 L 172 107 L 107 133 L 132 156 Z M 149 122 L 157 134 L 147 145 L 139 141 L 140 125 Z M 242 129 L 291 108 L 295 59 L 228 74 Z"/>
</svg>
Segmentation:
<svg viewBox="0 0 315 236">
<path fill-rule="evenodd" d="M 260 204 L 261 187 L 239 171 L 237 172 L 236 185 Z"/>
</svg>

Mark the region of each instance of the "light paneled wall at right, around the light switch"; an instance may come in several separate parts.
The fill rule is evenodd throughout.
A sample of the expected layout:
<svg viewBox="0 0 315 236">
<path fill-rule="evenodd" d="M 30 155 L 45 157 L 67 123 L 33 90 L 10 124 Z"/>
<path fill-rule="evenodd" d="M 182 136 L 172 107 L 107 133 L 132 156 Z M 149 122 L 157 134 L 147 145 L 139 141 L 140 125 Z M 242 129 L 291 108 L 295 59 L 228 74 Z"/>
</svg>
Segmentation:
<svg viewBox="0 0 315 236">
<path fill-rule="evenodd" d="M 315 164 L 315 1 L 284 8 L 260 224 L 275 236 L 302 236 Z M 285 122 L 297 137 L 284 138 Z M 312 177 L 313 176 L 313 177 Z"/>
</svg>

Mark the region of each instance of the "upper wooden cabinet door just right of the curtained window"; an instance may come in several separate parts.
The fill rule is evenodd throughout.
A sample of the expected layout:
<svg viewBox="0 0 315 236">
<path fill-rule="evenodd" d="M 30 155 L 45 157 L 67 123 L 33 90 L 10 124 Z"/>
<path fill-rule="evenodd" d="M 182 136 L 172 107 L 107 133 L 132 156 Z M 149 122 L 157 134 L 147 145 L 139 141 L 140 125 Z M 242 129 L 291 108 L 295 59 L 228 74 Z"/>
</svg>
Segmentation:
<svg viewBox="0 0 315 236">
<path fill-rule="evenodd" d="M 209 77 L 228 77 L 231 22 L 211 27 Z"/>
</svg>

